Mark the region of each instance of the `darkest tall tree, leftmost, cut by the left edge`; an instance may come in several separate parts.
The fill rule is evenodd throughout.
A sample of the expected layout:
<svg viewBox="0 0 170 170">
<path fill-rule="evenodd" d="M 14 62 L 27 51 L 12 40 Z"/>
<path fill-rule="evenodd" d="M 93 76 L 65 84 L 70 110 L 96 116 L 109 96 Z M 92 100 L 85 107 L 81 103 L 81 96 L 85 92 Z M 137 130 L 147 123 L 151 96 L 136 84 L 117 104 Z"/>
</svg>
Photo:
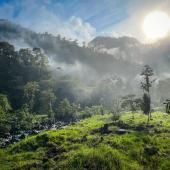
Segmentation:
<svg viewBox="0 0 170 170">
<path fill-rule="evenodd" d="M 7 94 L 13 108 L 20 106 L 22 77 L 14 46 L 0 42 L 0 93 Z"/>
</svg>

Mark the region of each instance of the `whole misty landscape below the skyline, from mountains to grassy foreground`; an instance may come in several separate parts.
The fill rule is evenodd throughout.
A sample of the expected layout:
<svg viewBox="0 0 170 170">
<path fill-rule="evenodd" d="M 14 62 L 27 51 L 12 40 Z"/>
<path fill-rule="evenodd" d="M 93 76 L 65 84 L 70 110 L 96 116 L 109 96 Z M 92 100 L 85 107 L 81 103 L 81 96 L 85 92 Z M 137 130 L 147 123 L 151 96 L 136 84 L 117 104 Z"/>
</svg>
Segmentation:
<svg viewBox="0 0 170 170">
<path fill-rule="evenodd" d="M 0 64 L 0 169 L 169 169 L 168 37 L 79 44 L 0 20 Z"/>
</svg>

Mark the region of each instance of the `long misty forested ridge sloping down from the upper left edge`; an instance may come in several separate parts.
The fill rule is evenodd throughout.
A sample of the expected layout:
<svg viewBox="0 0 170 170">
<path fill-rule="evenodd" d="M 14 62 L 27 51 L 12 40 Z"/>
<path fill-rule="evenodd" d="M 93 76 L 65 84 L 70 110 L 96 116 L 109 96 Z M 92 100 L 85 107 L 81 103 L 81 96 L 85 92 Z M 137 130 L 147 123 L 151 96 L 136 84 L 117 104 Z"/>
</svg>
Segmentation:
<svg viewBox="0 0 170 170">
<path fill-rule="evenodd" d="M 129 76 L 132 74 L 134 76 L 137 72 L 136 64 L 116 57 L 117 54 L 113 57 L 112 54 L 95 50 L 93 47 L 80 47 L 76 41 L 69 41 L 49 33 L 35 33 L 7 20 L 0 20 L 0 41 L 12 42 L 17 47 L 42 48 L 56 63 L 66 64 L 67 68 L 79 63 L 79 68 L 86 68 L 84 72 L 93 70 L 99 75 L 120 74 L 123 76 L 127 76 L 127 72 Z M 60 66 L 59 64 L 57 66 Z"/>
</svg>

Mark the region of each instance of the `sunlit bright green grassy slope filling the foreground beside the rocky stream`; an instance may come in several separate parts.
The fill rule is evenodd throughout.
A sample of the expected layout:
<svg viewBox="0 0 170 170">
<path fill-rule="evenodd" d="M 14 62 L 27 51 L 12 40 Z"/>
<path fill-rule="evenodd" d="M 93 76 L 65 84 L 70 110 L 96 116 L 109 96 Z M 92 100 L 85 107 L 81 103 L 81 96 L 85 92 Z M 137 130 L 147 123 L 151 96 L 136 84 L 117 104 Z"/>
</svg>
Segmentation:
<svg viewBox="0 0 170 170">
<path fill-rule="evenodd" d="M 109 134 L 98 132 L 111 122 L 111 115 L 97 115 L 28 137 L 0 150 L 0 169 L 169 170 L 170 115 L 155 112 L 149 126 L 145 115 L 131 117 L 130 113 L 121 117 L 130 132 L 123 135 L 116 133 L 120 123 L 109 124 Z"/>
</svg>

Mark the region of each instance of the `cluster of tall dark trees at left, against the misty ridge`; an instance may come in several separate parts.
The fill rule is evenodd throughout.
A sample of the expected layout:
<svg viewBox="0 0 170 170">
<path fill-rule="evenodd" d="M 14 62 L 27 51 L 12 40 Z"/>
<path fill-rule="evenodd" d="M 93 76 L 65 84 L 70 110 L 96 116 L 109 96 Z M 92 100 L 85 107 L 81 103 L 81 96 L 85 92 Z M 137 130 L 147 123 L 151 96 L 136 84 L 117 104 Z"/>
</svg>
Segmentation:
<svg viewBox="0 0 170 170">
<path fill-rule="evenodd" d="M 15 51 L 6 42 L 0 42 L 0 49 L 0 92 L 7 94 L 12 107 L 18 109 L 24 104 L 25 91 L 32 107 L 37 88 L 35 82 L 51 78 L 47 56 L 39 48 Z"/>
</svg>

